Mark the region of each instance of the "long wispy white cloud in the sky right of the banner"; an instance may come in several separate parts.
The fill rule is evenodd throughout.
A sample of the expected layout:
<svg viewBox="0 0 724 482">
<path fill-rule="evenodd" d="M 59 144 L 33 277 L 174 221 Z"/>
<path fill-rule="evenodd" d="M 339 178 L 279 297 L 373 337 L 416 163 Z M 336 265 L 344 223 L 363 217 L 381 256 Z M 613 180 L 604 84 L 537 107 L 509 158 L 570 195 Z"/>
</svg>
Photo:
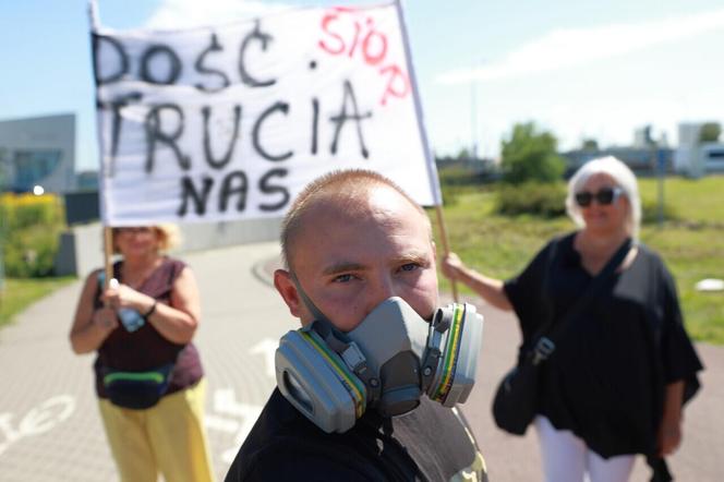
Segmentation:
<svg viewBox="0 0 724 482">
<path fill-rule="evenodd" d="M 724 9 L 637 24 L 557 29 L 514 50 L 499 62 L 441 74 L 441 84 L 520 77 L 622 56 L 724 29 Z"/>
</svg>

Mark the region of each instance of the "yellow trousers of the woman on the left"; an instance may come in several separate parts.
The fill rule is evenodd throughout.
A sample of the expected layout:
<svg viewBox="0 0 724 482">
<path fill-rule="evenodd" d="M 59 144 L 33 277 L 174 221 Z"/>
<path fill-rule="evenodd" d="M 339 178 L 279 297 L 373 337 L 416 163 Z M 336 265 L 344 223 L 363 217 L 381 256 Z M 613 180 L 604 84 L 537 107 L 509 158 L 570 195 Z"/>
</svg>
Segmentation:
<svg viewBox="0 0 724 482">
<path fill-rule="evenodd" d="M 214 481 L 204 429 L 206 381 L 145 410 L 99 399 L 100 417 L 122 482 Z"/>
</svg>

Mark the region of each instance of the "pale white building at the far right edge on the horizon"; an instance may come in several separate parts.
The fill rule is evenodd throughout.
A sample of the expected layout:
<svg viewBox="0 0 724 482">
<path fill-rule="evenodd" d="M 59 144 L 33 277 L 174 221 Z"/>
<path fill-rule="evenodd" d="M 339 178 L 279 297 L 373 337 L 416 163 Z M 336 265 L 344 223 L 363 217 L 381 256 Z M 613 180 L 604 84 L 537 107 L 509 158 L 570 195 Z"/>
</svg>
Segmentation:
<svg viewBox="0 0 724 482">
<path fill-rule="evenodd" d="M 703 123 L 679 124 L 679 144 L 674 156 L 674 170 L 700 178 L 710 172 L 724 172 L 724 143 L 701 142 Z"/>
</svg>

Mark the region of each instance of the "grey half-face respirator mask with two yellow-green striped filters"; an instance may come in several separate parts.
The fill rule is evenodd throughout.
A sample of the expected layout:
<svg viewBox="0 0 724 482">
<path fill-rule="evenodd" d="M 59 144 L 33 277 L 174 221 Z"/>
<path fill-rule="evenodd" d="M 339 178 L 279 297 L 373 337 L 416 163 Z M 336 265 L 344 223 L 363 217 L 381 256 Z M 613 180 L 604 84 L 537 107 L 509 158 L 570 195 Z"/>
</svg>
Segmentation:
<svg viewBox="0 0 724 482">
<path fill-rule="evenodd" d="M 439 308 L 427 322 L 389 298 L 342 333 L 302 298 L 316 320 L 281 338 L 277 386 L 323 431 L 343 433 L 370 408 L 383 417 L 406 413 L 423 395 L 445 407 L 468 399 L 483 332 L 473 305 Z"/>
</svg>

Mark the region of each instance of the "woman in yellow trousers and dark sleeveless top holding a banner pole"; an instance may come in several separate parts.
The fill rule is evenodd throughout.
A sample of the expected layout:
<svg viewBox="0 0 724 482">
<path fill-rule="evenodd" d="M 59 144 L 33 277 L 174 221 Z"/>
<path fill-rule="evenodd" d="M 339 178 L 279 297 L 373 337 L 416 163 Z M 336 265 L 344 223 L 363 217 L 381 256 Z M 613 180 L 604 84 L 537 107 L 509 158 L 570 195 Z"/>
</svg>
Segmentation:
<svg viewBox="0 0 724 482">
<path fill-rule="evenodd" d="M 112 229 L 112 279 L 86 279 L 70 333 L 94 363 L 100 414 L 122 481 L 214 480 L 203 423 L 205 381 L 192 338 L 200 322 L 194 275 L 172 248 L 171 226 Z"/>
</svg>

